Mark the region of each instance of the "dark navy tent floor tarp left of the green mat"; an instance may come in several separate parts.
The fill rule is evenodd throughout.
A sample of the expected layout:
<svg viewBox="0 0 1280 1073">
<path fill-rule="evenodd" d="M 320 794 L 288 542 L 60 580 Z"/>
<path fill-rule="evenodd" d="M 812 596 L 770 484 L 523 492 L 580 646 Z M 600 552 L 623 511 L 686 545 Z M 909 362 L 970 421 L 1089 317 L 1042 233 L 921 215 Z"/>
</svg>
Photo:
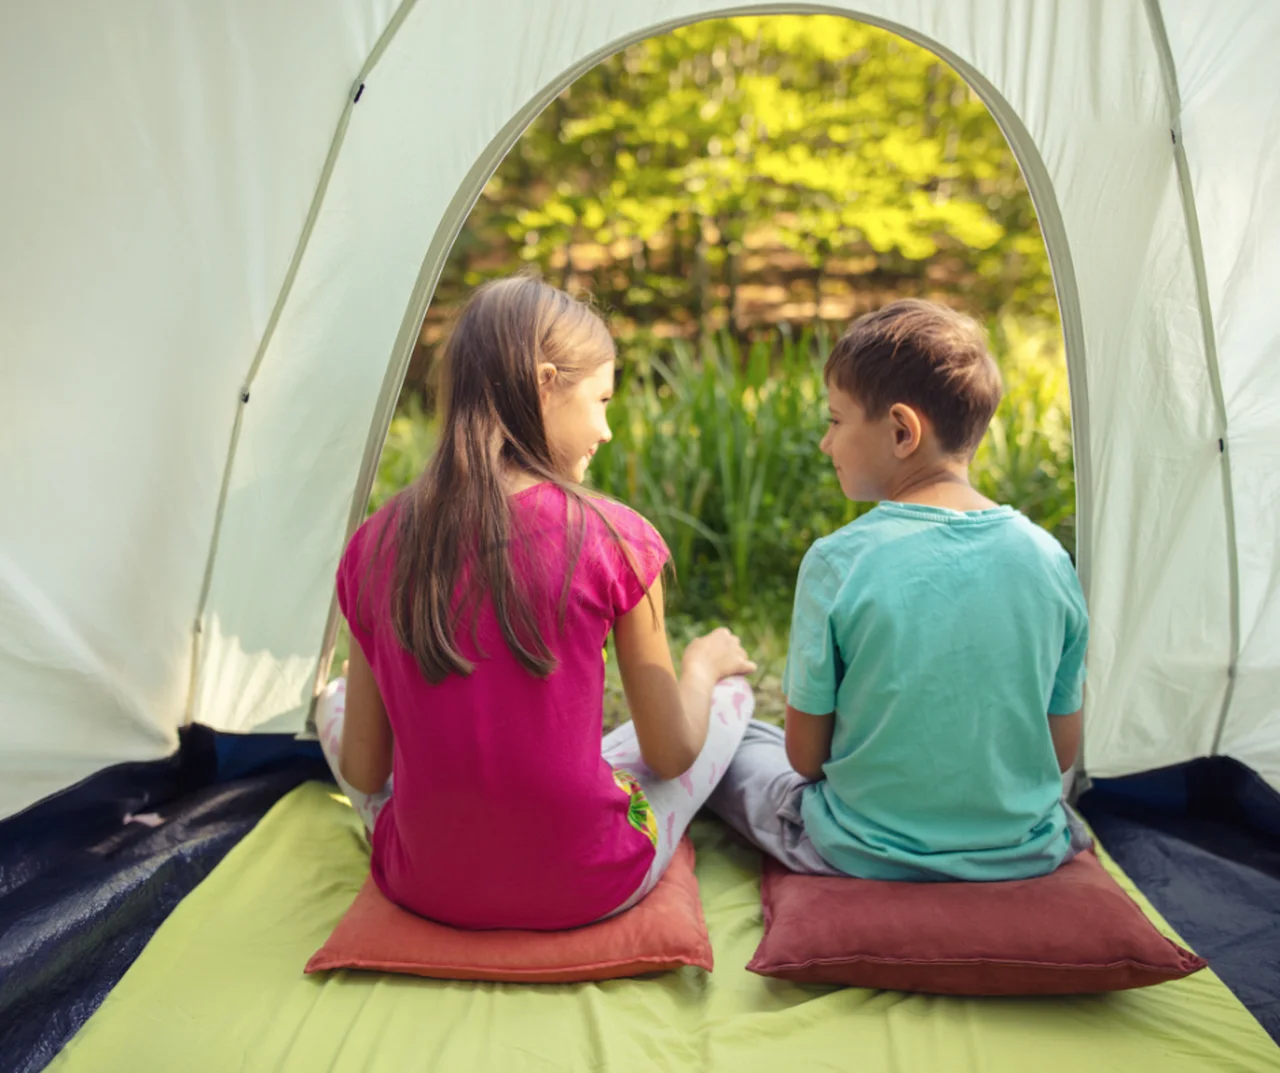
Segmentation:
<svg viewBox="0 0 1280 1073">
<path fill-rule="evenodd" d="M 197 726 L 0 823 L 0 1069 L 42 1069 L 268 809 L 328 777 L 315 743 Z"/>
</svg>

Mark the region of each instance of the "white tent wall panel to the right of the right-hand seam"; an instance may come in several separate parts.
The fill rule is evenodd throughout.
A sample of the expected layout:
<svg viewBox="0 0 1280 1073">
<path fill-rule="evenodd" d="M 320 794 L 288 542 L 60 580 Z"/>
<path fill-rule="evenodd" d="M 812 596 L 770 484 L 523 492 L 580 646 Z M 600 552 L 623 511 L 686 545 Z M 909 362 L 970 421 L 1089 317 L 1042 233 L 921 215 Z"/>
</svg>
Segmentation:
<svg viewBox="0 0 1280 1073">
<path fill-rule="evenodd" d="M 1203 236 L 1239 557 L 1239 659 L 1220 752 L 1280 787 L 1280 6 L 1166 14 Z"/>
</svg>

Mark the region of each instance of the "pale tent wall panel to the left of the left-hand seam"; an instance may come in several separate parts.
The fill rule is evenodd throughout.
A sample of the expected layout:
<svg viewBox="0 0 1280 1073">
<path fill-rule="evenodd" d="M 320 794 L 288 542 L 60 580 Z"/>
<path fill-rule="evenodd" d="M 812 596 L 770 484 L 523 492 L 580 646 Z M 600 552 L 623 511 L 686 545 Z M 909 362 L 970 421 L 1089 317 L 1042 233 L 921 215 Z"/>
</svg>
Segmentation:
<svg viewBox="0 0 1280 1073">
<path fill-rule="evenodd" d="M 0 19 L 0 816 L 177 745 L 239 389 L 393 10 L 69 8 Z"/>
</svg>

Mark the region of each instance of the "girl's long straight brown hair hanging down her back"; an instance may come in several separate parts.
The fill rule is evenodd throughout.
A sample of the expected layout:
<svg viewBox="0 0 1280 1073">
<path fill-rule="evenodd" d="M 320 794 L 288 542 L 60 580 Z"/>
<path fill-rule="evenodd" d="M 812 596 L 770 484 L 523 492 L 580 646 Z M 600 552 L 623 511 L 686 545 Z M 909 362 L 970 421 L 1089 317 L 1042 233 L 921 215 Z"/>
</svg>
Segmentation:
<svg viewBox="0 0 1280 1073">
<path fill-rule="evenodd" d="M 512 570 L 504 474 L 524 471 L 559 487 L 580 520 L 588 508 L 600 513 L 552 457 L 538 366 L 552 364 L 557 383 L 570 387 L 604 361 L 613 361 L 613 341 L 600 318 L 563 291 L 529 277 L 484 284 L 454 323 L 442 355 L 440 442 L 393 506 L 390 615 L 397 639 L 428 681 L 470 675 L 475 668 L 457 636 L 470 629 L 475 638 L 485 595 L 493 601 L 503 640 L 516 659 L 540 677 L 556 668 L 534 606 Z M 388 521 L 381 535 L 390 528 Z M 582 533 L 579 525 L 562 615 Z M 628 549 L 620 544 L 635 569 Z M 370 570 L 383 562 L 379 548 Z M 461 598 L 460 581 L 465 583 Z"/>
</svg>

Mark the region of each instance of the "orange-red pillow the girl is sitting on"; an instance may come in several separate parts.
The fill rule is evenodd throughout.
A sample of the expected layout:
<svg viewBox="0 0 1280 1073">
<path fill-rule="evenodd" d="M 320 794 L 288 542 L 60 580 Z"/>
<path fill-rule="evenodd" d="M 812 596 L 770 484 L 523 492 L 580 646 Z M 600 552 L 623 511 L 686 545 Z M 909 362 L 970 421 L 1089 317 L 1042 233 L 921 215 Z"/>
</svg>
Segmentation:
<svg viewBox="0 0 1280 1073">
<path fill-rule="evenodd" d="M 572 931 L 445 927 L 388 901 L 370 877 L 306 971 L 376 969 L 435 980 L 568 983 L 680 965 L 712 968 L 712 944 L 694 877 L 694 844 L 687 836 L 648 898 L 617 917 Z"/>
</svg>

